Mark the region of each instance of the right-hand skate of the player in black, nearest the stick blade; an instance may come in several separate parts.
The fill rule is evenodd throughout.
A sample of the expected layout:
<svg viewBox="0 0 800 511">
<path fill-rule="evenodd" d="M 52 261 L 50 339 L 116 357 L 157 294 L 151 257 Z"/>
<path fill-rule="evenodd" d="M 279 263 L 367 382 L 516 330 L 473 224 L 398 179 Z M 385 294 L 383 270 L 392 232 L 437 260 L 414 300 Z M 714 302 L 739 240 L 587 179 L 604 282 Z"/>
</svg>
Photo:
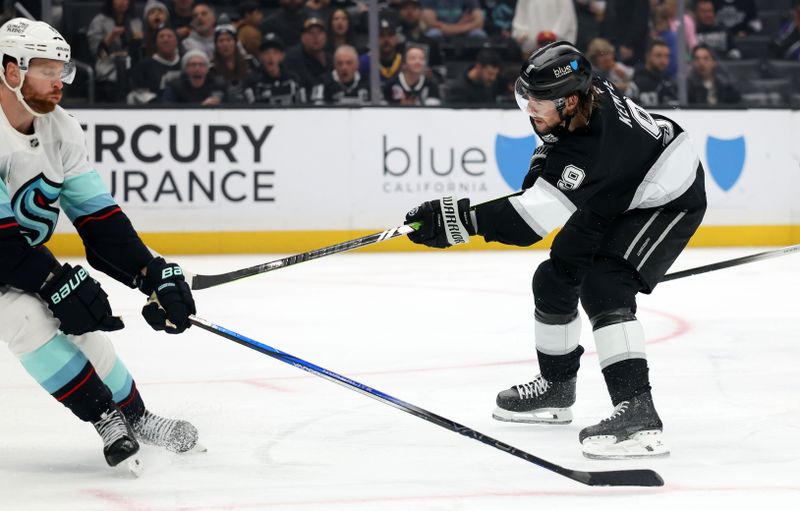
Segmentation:
<svg viewBox="0 0 800 511">
<path fill-rule="evenodd" d="M 669 456 L 661 419 L 650 392 L 619 403 L 607 419 L 581 430 L 583 455 L 592 459 Z"/>
</svg>

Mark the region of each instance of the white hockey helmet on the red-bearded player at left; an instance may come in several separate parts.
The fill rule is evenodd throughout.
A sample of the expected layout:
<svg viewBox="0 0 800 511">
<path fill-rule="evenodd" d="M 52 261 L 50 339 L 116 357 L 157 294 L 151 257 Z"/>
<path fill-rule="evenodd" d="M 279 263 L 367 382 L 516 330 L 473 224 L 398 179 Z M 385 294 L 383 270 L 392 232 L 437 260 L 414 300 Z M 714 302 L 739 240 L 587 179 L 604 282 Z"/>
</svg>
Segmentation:
<svg viewBox="0 0 800 511">
<path fill-rule="evenodd" d="M 17 98 L 33 115 L 41 114 L 31 110 L 21 93 L 22 83 L 30 69 L 31 60 L 50 59 L 64 62 L 64 70 L 60 76 L 61 81 L 72 83 L 75 78 L 75 65 L 70 60 L 71 54 L 69 44 L 58 33 L 58 30 L 44 21 L 14 18 L 0 27 L 0 80 L 6 87 L 16 92 Z M 18 87 L 12 88 L 6 83 L 5 66 L 2 64 L 6 55 L 13 57 L 19 66 L 21 80 Z"/>
</svg>

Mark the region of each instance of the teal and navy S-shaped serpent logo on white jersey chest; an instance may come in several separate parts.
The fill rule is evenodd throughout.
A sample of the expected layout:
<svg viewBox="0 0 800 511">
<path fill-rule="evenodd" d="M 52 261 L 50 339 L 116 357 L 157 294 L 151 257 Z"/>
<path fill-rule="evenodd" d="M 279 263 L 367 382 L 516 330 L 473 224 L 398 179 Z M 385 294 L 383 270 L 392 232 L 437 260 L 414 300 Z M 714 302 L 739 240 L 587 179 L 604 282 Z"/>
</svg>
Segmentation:
<svg viewBox="0 0 800 511">
<path fill-rule="evenodd" d="M 39 174 L 22 185 L 11 200 L 20 230 L 34 247 L 49 240 L 56 228 L 58 208 L 52 204 L 60 192 L 61 183 Z"/>
</svg>

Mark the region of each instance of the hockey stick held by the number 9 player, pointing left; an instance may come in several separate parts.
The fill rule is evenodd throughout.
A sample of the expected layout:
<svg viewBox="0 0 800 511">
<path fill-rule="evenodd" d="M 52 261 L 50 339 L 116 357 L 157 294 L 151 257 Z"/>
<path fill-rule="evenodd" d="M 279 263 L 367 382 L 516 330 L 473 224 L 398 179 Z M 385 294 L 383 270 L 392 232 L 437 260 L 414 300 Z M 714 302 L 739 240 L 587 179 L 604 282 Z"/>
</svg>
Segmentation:
<svg viewBox="0 0 800 511">
<path fill-rule="evenodd" d="M 470 209 L 474 210 L 478 206 L 483 206 L 485 204 L 490 204 L 492 202 L 508 199 L 509 197 L 514 197 L 515 195 L 519 195 L 522 192 L 523 191 L 515 192 L 510 195 L 506 195 L 504 197 L 498 197 L 496 199 L 492 199 L 490 201 L 481 204 L 476 204 L 475 206 L 472 206 Z M 189 285 L 192 288 L 192 290 L 196 291 L 198 289 L 207 289 L 209 287 L 227 284 L 228 282 L 233 282 L 235 280 L 243 279 L 245 277 L 252 277 L 253 275 L 259 275 L 261 273 L 277 270 L 279 268 L 284 268 L 286 266 L 292 266 L 294 264 L 303 263 L 305 261 L 311 261 L 312 259 L 319 259 L 320 257 L 325 257 L 332 254 L 338 254 L 339 252 L 346 252 L 348 250 L 354 250 L 356 248 L 366 247 L 367 245 L 373 245 L 375 243 L 380 243 L 382 241 L 391 240 L 397 238 L 398 236 L 403 236 L 408 233 L 414 232 L 417 229 L 419 229 L 421 225 L 422 223 L 420 222 L 412 222 L 410 224 L 401 225 L 400 227 L 395 227 L 393 229 L 387 229 L 383 232 L 369 234 L 367 236 L 357 238 L 354 240 L 337 243 L 336 245 L 331 245 L 329 247 L 318 248 L 316 250 L 311 250 L 309 252 L 303 252 L 302 254 L 295 254 L 292 256 L 284 257 L 283 259 L 270 261 L 268 263 L 257 264 L 255 266 L 250 266 L 249 268 L 242 268 L 241 270 L 233 270 L 226 273 L 219 273 L 216 275 L 192 274 L 190 272 L 186 272 L 185 270 L 184 273 L 187 277 L 187 280 L 189 281 Z"/>
</svg>

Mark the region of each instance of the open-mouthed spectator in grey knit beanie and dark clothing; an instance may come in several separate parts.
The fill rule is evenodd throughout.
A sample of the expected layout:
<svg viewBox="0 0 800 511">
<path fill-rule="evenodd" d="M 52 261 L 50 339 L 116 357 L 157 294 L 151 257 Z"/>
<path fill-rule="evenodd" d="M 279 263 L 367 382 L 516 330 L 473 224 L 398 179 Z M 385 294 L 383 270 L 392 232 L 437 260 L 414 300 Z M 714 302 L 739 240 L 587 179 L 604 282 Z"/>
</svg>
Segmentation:
<svg viewBox="0 0 800 511">
<path fill-rule="evenodd" d="M 181 58 L 182 72 L 167 82 L 162 103 L 219 105 L 225 97 L 225 85 L 208 74 L 208 55 L 203 50 L 189 50 Z"/>
</svg>

